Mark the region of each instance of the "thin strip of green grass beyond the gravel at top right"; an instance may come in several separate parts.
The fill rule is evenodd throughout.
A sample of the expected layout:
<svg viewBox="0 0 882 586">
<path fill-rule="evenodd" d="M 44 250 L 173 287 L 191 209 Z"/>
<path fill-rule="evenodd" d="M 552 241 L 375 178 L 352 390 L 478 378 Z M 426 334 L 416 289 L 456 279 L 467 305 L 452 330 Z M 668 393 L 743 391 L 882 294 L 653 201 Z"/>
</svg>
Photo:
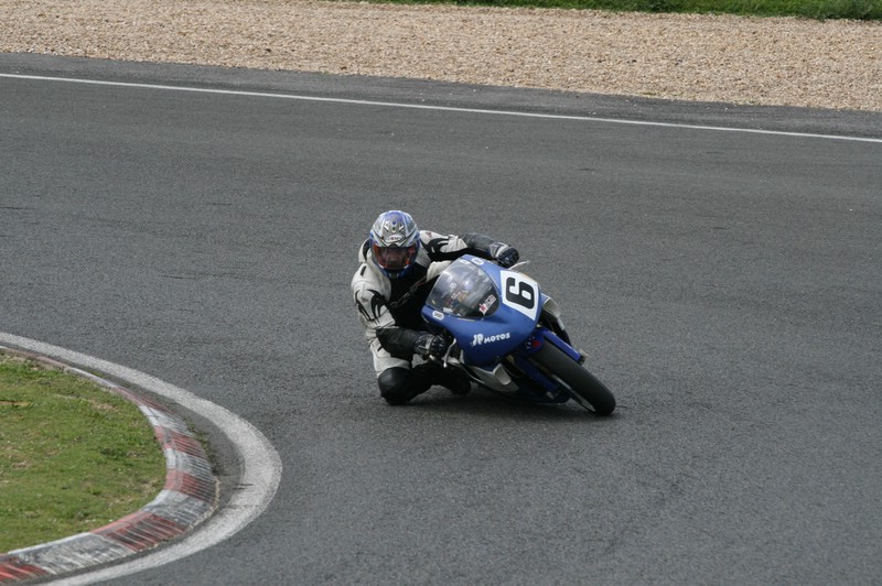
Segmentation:
<svg viewBox="0 0 882 586">
<path fill-rule="evenodd" d="M 396 3 L 882 20 L 882 0 L 387 0 Z"/>
</svg>

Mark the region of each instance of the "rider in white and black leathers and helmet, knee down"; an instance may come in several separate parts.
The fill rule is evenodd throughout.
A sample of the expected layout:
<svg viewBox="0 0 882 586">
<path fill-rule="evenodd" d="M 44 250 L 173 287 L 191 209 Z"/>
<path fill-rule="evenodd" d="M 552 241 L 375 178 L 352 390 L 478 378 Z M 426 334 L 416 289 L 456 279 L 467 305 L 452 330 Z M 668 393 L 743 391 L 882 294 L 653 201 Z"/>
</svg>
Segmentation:
<svg viewBox="0 0 882 586">
<path fill-rule="evenodd" d="M 429 333 L 420 314 L 441 271 L 463 254 L 495 260 L 509 268 L 513 247 L 481 234 L 441 235 L 420 230 L 410 214 L 379 215 L 358 251 L 361 267 L 352 279 L 358 317 L 365 329 L 380 395 L 389 404 L 407 403 L 441 384 L 454 394 L 469 392 L 469 379 L 429 357 L 441 357 L 449 341 Z M 412 366 L 413 356 L 426 361 Z"/>
</svg>

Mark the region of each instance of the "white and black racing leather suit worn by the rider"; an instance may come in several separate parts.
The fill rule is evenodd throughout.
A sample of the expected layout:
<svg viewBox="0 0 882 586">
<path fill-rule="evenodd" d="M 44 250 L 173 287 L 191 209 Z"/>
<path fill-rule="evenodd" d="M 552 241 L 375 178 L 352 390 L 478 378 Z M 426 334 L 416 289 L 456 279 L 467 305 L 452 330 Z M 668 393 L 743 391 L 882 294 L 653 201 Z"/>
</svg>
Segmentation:
<svg viewBox="0 0 882 586">
<path fill-rule="evenodd" d="M 426 332 L 420 312 L 438 275 L 463 254 L 491 259 L 495 245 L 480 234 L 444 236 L 421 230 L 417 260 L 399 279 L 386 276 L 372 258 L 369 242 L 362 245 L 352 293 L 377 376 L 388 368 L 410 368 L 416 339 Z"/>
</svg>

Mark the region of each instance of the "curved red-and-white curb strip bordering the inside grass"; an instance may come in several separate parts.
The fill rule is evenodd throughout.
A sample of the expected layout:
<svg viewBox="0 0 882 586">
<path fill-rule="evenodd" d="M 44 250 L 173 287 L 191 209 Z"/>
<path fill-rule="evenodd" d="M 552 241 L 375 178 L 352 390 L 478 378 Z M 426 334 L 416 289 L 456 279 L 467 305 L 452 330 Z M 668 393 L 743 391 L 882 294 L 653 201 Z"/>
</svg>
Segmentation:
<svg viewBox="0 0 882 586">
<path fill-rule="evenodd" d="M 0 553 L 0 584 L 117 562 L 192 530 L 214 511 L 217 480 L 212 465 L 180 417 L 159 403 L 63 362 L 4 346 L 0 351 L 83 377 L 128 399 L 153 426 L 165 456 L 165 486 L 140 511 L 85 533 Z"/>
</svg>

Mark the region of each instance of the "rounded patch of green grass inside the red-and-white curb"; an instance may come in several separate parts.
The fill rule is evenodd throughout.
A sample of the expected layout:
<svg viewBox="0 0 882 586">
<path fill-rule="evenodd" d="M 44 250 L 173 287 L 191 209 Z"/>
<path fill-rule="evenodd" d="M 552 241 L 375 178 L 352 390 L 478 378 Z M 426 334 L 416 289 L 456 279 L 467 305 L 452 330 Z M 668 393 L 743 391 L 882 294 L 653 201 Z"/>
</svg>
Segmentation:
<svg viewBox="0 0 882 586">
<path fill-rule="evenodd" d="M 0 354 L 0 552 L 103 527 L 153 500 L 164 480 L 136 405 Z"/>
</svg>

